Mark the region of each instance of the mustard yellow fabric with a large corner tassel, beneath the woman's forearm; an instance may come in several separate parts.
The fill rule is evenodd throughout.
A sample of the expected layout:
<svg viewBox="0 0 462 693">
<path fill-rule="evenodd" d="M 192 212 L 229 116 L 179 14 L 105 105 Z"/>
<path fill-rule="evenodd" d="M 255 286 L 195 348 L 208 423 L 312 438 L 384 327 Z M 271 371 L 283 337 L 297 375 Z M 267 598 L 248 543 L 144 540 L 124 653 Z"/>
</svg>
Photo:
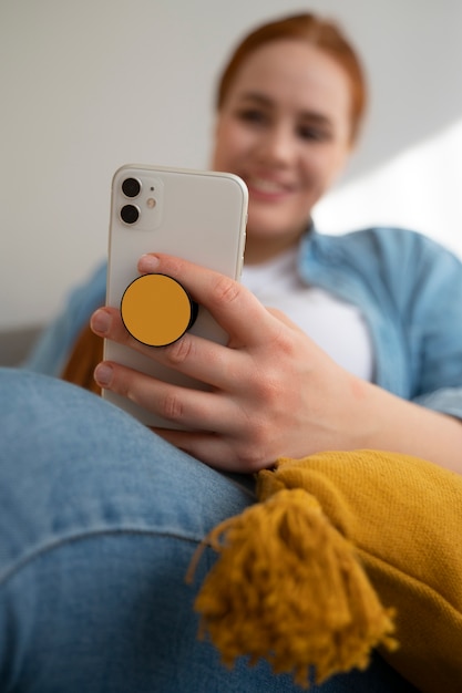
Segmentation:
<svg viewBox="0 0 462 693">
<path fill-rule="evenodd" d="M 462 691 L 462 477 L 378 451 L 280 459 L 259 503 L 217 527 L 196 600 L 232 664 L 308 686 L 373 648 L 420 691 Z"/>
</svg>

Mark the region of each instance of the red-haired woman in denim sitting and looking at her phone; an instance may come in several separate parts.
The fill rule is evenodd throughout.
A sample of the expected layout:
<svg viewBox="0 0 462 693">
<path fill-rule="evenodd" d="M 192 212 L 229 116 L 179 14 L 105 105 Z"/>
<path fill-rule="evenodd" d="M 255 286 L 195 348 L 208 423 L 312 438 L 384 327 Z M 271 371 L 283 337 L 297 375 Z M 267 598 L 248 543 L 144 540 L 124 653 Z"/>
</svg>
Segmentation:
<svg viewBox="0 0 462 693">
<path fill-rule="evenodd" d="M 239 661 L 228 672 L 195 640 L 183 576 L 197 542 L 253 503 L 250 473 L 280 455 L 383 448 L 462 470 L 460 262 L 415 234 L 329 238 L 310 220 L 348 159 L 365 102 L 359 62 L 329 22 L 300 15 L 249 34 L 220 82 L 213 154 L 214 168 L 249 188 L 245 286 L 178 258 L 138 263 L 143 273 L 181 279 L 226 329 L 228 346 L 186 334 L 145 350 L 117 311 L 93 313 L 99 338 L 213 385 L 184 391 L 114 363 L 96 366 L 100 386 L 187 432 L 156 436 L 79 389 L 3 373 L 12 395 L 2 412 L 10 425 L 1 521 L 11 535 L 2 690 L 296 690 L 264 663 Z M 103 277 L 74 296 L 31 368 L 45 370 L 50 343 L 62 362 L 102 302 Z M 65 321 L 74 324 L 60 352 Z M 411 686 L 377 658 L 321 690 Z"/>
</svg>

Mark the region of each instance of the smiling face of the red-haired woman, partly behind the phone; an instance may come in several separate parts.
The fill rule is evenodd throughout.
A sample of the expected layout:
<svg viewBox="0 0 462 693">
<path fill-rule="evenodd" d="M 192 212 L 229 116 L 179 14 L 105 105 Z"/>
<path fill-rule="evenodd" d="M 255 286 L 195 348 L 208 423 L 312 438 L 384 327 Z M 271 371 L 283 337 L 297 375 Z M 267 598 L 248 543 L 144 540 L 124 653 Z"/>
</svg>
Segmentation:
<svg viewBox="0 0 462 693">
<path fill-rule="evenodd" d="M 294 245 L 350 151 L 350 84 L 327 53 L 278 40 L 239 69 L 217 116 L 213 167 L 249 190 L 246 261 Z"/>
</svg>

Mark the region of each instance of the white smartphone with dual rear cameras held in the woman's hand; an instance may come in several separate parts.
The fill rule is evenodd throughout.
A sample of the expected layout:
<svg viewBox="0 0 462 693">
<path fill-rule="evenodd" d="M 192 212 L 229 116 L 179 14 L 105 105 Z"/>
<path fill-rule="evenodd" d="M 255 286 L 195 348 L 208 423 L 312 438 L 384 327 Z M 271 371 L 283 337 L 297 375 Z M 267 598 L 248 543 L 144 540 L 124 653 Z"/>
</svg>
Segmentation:
<svg viewBox="0 0 462 693">
<path fill-rule="evenodd" d="M 125 290 L 140 277 L 146 252 L 166 252 L 239 280 L 245 247 L 248 193 L 233 174 L 126 165 L 112 180 L 106 304 L 120 308 Z M 204 308 L 189 331 L 218 343 L 228 335 Z M 156 346 L 151 346 L 156 349 Z M 183 386 L 206 386 L 110 340 L 104 359 Z M 150 426 L 177 427 L 103 391 L 103 396 Z"/>
</svg>

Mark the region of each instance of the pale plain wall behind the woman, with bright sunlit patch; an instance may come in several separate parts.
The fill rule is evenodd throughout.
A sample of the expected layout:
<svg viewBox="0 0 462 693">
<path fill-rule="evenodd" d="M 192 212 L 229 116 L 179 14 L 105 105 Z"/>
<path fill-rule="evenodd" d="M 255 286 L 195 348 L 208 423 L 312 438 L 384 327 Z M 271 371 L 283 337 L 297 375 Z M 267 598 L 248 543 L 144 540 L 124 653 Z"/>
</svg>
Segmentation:
<svg viewBox="0 0 462 693">
<path fill-rule="evenodd" d="M 230 48 L 306 9 L 341 22 L 371 84 L 318 225 L 411 226 L 462 256 L 460 0 L 0 0 L 0 328 L 50 319 L 104 258 L 120 165 L 207 167 Z"/>
</svg>

